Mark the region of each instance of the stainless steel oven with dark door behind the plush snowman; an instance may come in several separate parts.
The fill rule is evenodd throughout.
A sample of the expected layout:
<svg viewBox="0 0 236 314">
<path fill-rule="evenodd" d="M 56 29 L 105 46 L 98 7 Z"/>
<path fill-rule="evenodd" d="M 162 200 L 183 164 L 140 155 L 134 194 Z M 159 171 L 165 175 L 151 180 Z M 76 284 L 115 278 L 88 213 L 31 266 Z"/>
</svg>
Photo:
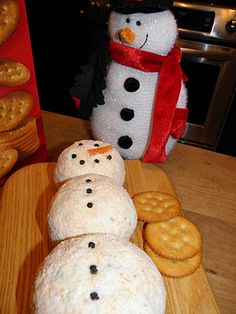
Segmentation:
<svg viewBox="0 0 236 314">
<path fill-rule="evenodd" d="M 181 141 L 217 150 L 236 105 L 236 4 L 208 2 L 176 1 L 173 11 L 188 76 L 189 119 Z"/>
</svg>

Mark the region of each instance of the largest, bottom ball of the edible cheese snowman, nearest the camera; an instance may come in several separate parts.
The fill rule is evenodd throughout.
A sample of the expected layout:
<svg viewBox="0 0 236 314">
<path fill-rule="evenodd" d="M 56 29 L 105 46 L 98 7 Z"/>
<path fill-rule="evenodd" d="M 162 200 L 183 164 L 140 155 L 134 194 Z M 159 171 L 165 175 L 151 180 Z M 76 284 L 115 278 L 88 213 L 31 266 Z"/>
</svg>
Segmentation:
<svg viewBox="0 0 236 314">
<path fill-rule="evenodd" d="M 96 274 L 90 265 L 97 266 Z M 91 292 L 99 300 L 92 300 Z M 111 235 L 93 234 L 66 240 L 46 257 L 33 300 L 36 314 L 164 314 L 166 292 L 144 251 Z"/>
</svg>

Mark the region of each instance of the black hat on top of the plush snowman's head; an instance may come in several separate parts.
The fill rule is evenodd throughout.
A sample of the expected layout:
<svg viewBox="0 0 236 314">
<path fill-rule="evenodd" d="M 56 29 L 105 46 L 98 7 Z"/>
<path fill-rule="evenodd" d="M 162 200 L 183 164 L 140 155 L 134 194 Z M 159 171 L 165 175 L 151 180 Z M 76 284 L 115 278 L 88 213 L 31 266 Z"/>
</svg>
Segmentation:
<svg viewBox="0 0 236 314">
<path fill-rule="evenodd" d="M 122 13 L 154 13 L 171 9 L 172 0 L 110 0 L 111 9 Z"/>
</svg>

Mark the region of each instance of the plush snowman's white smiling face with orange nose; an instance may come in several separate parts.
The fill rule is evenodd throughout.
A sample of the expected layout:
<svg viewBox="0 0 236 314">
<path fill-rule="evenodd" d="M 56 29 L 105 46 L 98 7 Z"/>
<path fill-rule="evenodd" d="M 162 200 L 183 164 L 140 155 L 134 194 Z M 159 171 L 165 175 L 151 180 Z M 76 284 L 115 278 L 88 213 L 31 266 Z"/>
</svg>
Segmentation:
<svg viewBox="0 0 236 314">
<path fill-rule="evenodd" d="M 176 41 L 177 26 L 169 10 L 148 14 L 112 12 L 109 33 L 113 41 L 123 45 L 167 55 Z"/>
</svg>

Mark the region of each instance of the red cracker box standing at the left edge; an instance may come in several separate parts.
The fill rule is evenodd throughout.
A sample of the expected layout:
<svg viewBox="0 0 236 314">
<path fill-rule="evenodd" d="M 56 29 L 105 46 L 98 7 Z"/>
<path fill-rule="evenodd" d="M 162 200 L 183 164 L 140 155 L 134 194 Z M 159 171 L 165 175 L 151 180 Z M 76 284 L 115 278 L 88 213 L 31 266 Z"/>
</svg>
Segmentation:
<svg viewBox="0 0 236 314">
<path fill-rule="evenodd" d="M 23 66 L 25 66 L 30 73 L 29 79 L 26 82 L 23 82 L 23 84 L 20 83 L 17 86 L 12 86 L 12 85 L 5 86 L 3 83 L 1 84 L 1 76 L 0 76 L 0 101 L 2 101 L 4 97 L 6 97 L 6 95 L 14 93 L 16 91 L 24 91 L 24 92 L 30 93 L 33 96 L 33 106 L 32 106 L 31 111 L 27 113 L 27 117 L 25 117 L 24 119 L 35 120 L 36 128 L 35 128 L 35 123 L 34 123 L 35 131 L 33 133 L 34 133 L 34 136 L 37 138 L 37 144 L 35 145 L 35 144 L 32 144 L 34 143 L 34 139 L 31 133 L 27 135 L 25 134 L 25 132 L 23 132 L 21 140 L 19 140 L 19 135 L 18 135 L 18 139 L 12 140 L 12 133 L 9 133 L 9 132 L 12 132 L 12 130 L 7 131 L 7 132 L 0 131 L 0 136 L 1 136 L 0 151 L 6 150 L 9 148 L 15 148 L 17 150 L 19 149 L 18 156 L 20 156 L 16 164 L 14 165 L 14 167 L 4 177 L 0 178 L 0 185 L 1 185 L 4 183 L 5 179 L 10 174 L 12 174 L 16 169 L 26 164 L 45 161 L 47 158 L 47 150 L 46 150 L 42 121 L 41 121 L 41 116 L 40 116 L 40 104 L 39 104 L 39 97 L 38 97 L 34 61 L 33 61 L 33 55 L 32 55 L 30 33 L 29 33 L 29 28 L 28 28 L 28 20 L 27 20 L 27 15 L 26 15 L 25 3 L 24 3 L 24 0 L 0 0 L 0 6 L 2 7 L 0 10 L 0 62 L 3 59 L 14 60 L 17 63 L 20 63 Z M 10 34 L 6 35 L 7 30 L 3 28 L 4 24 L 6 24 L 5 21 L 8 22 L 7 19 L 9 19 L 9 16 L 11 18 L 11 15 L 13 15 L 13 18 L 14 18 L 14 12 L 16 8 L 17 8 L 17 12 L 19 13 L 17 25 L 13 27 L 12 31 L 10 30 Z M 9 10 L 10 10 L 10 14 L 9 14 Z M 10 24 L 11 24 L 11 21 L 10 21 Z M 24 125 L 24 120 L 23 122 L 21 122 L 21 124 L 19 124 L 19 126 L 14 127 L 13 131 L 20 129 L 22 125 Z M 0 117 L 0 129 L 1 129 L 1 117 Z M 18 134 L 21 134 L 21 133 L 19 132 Z M 14 135 L 13 137 L 17 137 L 17 136 Z M 10 140 L 8 141 L 8 139 Z M 19 146 L 20 142 L 23 143 L 22 144 L 23 153 L 21 153 L 21 146 Z M 11 145 L 12 147 L 10 147 Z M 33 148 L 30 149 L 29 146 L 31 147 L 33 146 Z M 26 148 L 28 148 L 28 152 L 27 150 L 26 152 L 24 152 L 24 149 Z M 1 162 L 3 163 L 3 160 L 0 159 L 0 163 Z M 0 164 L 0 168 L 1 168 L 1 164 Z"/>
</svg>

